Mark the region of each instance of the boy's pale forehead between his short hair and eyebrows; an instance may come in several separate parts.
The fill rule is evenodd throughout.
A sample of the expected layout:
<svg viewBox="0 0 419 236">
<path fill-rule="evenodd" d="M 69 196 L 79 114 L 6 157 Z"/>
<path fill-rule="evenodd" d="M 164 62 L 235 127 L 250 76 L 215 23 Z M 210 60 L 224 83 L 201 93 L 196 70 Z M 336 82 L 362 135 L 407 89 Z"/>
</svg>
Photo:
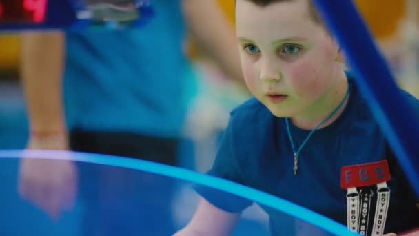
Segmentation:
<svg viewBox="0 0 419 236">
<path fill-rule="evenodd" d="M 256 6 L 249 0 L 238 0 L 236 5 L 236 31 L 240 38 L 308 37 L 316 23 L 309 17 L 305 0 L 284 1 L 268 6 Z"/>
</svg>

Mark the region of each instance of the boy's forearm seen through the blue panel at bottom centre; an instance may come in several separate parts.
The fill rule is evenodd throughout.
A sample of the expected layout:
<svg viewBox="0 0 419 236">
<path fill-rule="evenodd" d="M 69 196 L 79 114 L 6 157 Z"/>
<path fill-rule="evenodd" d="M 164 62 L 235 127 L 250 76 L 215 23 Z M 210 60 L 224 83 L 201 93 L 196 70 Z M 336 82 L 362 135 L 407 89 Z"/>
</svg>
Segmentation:
<svg viewBox="0 0 419 236">
<path fill-rule="evenodd" d="M 174 236 L 231 235 L 240 215 L 221 210 L 202 198 L 189 224 Z"/>
</svg>

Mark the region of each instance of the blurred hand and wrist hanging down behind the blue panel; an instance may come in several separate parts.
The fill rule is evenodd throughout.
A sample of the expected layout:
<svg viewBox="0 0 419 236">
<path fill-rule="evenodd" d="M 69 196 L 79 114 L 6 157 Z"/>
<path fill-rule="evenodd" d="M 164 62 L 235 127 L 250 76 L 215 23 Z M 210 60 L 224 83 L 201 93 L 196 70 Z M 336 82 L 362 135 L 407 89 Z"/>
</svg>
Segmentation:
<svg viewBox="0 0 419 236">
<path fill-rule="evenodd" d="M 67 138 L 31 137 L 28 149 L 67 150 Z M 19 166 L 19 194 L 52 219 L 63 210 L 71 210 L 77 192 L 78 172 L 73 161 L 51 159 L 21 159 Z"/>
</svg>

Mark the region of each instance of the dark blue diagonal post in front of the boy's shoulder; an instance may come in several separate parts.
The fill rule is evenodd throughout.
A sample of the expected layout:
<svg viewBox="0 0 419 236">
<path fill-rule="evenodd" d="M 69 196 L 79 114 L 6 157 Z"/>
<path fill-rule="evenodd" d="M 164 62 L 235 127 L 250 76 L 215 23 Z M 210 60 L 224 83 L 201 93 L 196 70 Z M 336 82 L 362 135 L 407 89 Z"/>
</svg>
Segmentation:
<svg viewBox="0 0 419 236">
<path fill-rule="evenodd" d="M 314 3 L 345 51 L 356 83 L 419 197 L 419 117 L 402 96 L 353 1 Z"/>
</svg>

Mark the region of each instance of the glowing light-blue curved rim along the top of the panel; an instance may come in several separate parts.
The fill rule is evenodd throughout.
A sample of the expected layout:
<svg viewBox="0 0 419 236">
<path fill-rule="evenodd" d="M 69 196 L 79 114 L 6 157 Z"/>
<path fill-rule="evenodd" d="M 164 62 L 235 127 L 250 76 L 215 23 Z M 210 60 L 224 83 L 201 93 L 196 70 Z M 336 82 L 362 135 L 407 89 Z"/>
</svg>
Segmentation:
<svg viewBox="0 0 419 236">
<path fill-rule="evenodd" d="M 203 186 L 215 188 L 226 193 L 232 193 L 245 199 L 250 199 L 257 202 L 258 204 L 263 204 L 283 213 L 287 213 L 288 215 L 292 215 L 298 219 L 302 219 L 305 222 L 309 222 L 314 226 L 323 228 L 325 231 L 333 233 L 334 235 L 357 235 L 356 233 L 352 233 L 347 230 L 346 226 L 343 226 L 338 222 L 334 222 L 334 220 L 324 217 L 323 215 L 314 213 L 313 211 L 303 208 L 302 206 L 293 204 L 292 202 L 280 199 L 274 195 L 263 193 L 254 188 L 249 188 L 247 186 L 236 184 L 225 179 L 212 177 L 210 175 L 197 173 L 192 170 L 167 166 L 165 164 L 159 164 L 152 161 L 143 161 L 139 159 L 117 157 L 113 155 L 77 153 L 61 150 L 0 150 L 0 159 L 21 158 L 70 160 L 91 164 L 130 168 L 133 170 L 141 170 L 147 173 L 173 177 L 194 184 L 201 184 Z"/>
</svg>

